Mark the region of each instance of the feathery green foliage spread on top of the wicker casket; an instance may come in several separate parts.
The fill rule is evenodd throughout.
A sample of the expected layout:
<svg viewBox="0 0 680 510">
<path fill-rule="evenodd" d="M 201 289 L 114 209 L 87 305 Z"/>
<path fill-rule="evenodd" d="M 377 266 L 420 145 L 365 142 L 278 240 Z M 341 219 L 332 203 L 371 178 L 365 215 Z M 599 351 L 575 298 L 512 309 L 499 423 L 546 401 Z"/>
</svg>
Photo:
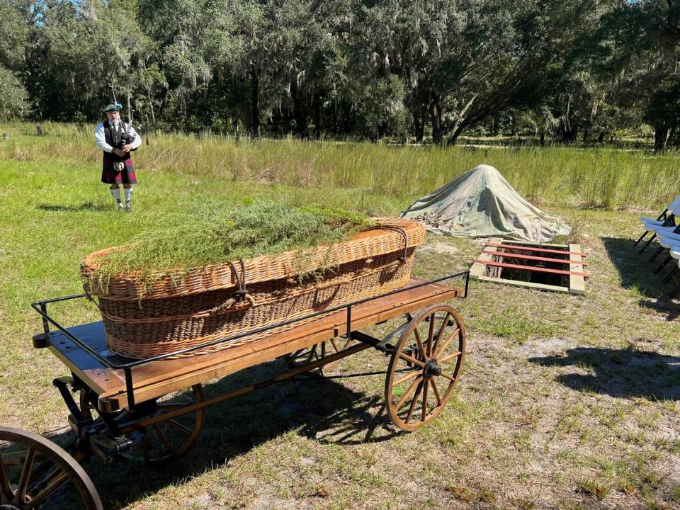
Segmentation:
<svg viewBox="0 0 680 510">
<path fill-rule="evenodd" d="M 203 201 L 186 214 L 167 215 L 156 229 L 99 258 L 99 283 L 106 288 L 103 284 L 111 276 L 133 272 L 152 283 L 159 271 L 288 250 L 299 250 L 304 257 L 310 248 L 342 242 L 371 225 L 362 215 L 321 206 L 295 208 L 259 200 L 230 206 Z"/>
</svg>

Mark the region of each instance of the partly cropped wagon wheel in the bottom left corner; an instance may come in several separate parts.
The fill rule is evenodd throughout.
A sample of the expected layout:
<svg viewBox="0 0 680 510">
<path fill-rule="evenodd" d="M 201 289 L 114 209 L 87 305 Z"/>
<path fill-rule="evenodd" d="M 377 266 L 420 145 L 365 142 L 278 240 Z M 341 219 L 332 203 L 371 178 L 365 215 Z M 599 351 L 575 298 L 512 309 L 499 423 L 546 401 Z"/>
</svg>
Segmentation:
<svg viewBox="0 0 680 510">
<path fill-rule="evenodd" d="M 69 483 L 78 490 L 79 502 L 57 494 Z M 0 509 L 40 507 L 102 508 L 90 477 L 63 448 L 33 432 L 0 427 Z"/>
</svg>

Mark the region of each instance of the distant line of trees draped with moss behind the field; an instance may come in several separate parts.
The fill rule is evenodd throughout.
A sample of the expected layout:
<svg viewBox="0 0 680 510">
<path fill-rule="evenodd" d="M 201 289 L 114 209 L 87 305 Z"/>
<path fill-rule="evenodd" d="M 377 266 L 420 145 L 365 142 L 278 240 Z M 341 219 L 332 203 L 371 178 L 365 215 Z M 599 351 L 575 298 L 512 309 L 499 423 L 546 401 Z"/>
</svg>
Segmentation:
<svg viewBox="0 0 680 510">
<path fill-rule="evenodd" d="M 680 0 L 0 0 L 0 118 L 680 146 Z"/>
</svg>

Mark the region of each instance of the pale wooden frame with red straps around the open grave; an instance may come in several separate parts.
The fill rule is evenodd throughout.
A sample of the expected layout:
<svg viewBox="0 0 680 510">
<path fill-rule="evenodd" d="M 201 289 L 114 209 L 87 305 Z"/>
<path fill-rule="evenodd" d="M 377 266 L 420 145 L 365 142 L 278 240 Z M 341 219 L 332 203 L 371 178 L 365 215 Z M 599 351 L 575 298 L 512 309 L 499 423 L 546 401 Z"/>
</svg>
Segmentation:
<svg viewBox="0 0 680 510">
<path fill-rule="evenodd" d="M 545 283 L 523 282 L 518 280 L 510 280 L 509 278 L 500 278 L 499 276 L 487 276 L 487 269 L 492 269 L 492 274 L 500 274 L 501 267 L 487 266 L 485 262 L 491 262 L 494 259 L 494 253 L 499 251 L 499 246 L 491 245 L 511 245 L 511 246 L 526 246 L 527 250 L 531 250 L 537 246 L 541 249 L 565 249 L 565 255 L 569 254 L 569 286 L 562 287 L 560 285 L 547 285 Z M 566 264 L 565 264 L 566 265 Z M 570 294 L 585 294 L 585 273 L 581 246 L 578 244 L 538 244 L 536 242 L 526 241 L 509 241 L 507 239 L 499 239 L 492 237 L 480 253 L 477 261 L 472 263 L 470 268 L 470 278 L 480 281 L 490 281 L 494 283 L 505 283 L 506 285 L 516 285 L 518 287 L 536 288 L 538 290 L 549 290 L 558 293 Z M 566 269 L 566 268 L 565 268 Z"/>
</svg>

